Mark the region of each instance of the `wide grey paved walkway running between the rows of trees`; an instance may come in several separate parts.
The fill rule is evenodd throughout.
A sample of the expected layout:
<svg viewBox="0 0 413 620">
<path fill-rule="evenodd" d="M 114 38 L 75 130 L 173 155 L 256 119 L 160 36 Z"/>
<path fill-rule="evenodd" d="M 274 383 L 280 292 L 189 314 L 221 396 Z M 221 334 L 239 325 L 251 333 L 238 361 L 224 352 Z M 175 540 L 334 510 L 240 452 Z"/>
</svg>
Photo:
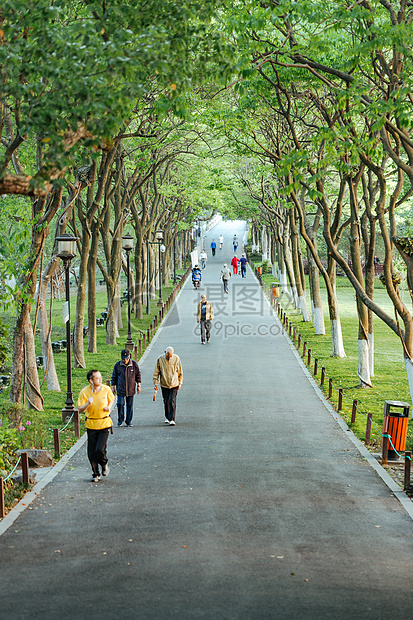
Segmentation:
<svg viewBox="0 0 413 620">
<path fill-rule="evenodd" d="M 183 288 L 142 364 L 131 429 L 94 485 L 83 446 L 0 537 L 7 620 L 411 617 L 413 522 L 321 403 L 250 270 Z M 212 238 L 206 238 L 206 247 Z M 194 333 L 200 292 L 211 343 Z M 263 334 L 263 335 L 260 335 Z M 177 426 L 156 357 L 182 359 Z"/>
</svg>

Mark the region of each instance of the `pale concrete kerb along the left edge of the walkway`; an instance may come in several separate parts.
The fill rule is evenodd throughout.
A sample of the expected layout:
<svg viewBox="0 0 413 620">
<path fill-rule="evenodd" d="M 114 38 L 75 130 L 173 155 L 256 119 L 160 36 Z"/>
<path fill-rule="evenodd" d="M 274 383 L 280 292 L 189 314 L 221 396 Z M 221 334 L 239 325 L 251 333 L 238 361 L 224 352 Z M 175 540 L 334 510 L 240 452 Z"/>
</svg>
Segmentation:
<svg viewBox="0 0 413 620">
<path fill-rule="evenodd" d="M 173 308 L 174 304 L 176 303 L 177 299 L 179 298 L 180 294 L 182 293 L 182 290 L 184 288 L 185 284 L 181 287 L 180 291 L 178 292 L 178 294 L 176 295 L 175 299 L 173 300 L 169 311 Z M 167 314 L 165 314 L 164 320 L 165 318 L 168 316 L 169 312 Z M 150 343 L 150 345 L 146 348 L 145 353 L 142 355 L 141 359 L 139 360 L 139 364 L 142 365 L 145 361 L 145 358 L 147 357 L 147 354 L 149 353 L 149 351 L 152 349 L 152 345 L 156 342 L 160 329 L 161 329 L 162 325 L 159 326 L 159 328 L 156 330 L 156 333 Z M 2 519 L 0 521 L 0 536 L 2 534 L 4 534 L 11 525 L 13 525 L 13 523 L 15 522 L 15 520 L 17 519 L 17 517 L 19 515 L 21 515 L 21 513 L 26 510 L 26 508 L 28 506 L 30 506 L 30 504 L 33 502 L 33 500 L 36 499 L 36 497 L 40 494 L 40 492 L 42 491 L 42 489 L 44 489 L 44 487 L 49 484 L 49 482 L 52 482 L 52 480 L 54 480 L 54 478 L 57 476 L 58 473 L 60 473 L 62 471 L 62 469 L 65 467 L 65 465 L 67 465 L 70 461 L 70 459 L 72 458 L 72 456 L 74 456 L 76 454 L 76 452 L 78 452 L 78 450 L 80 450 L 80 448 L 86 443 L 86 439 L 87 439 L 87 433 L 84 433 L 82 435 L 82 437 L 80 439 L 78 439 L 78 441 L 70 448 L 70 450 L 68 450 L 66 452 L 66 454 L 64 456 L 62 456 L 62 458 L 60 459 L 60 461 L 58 463 L 56 463 L 56 465 L 54 467 L 52 467 L 50 469 L 50 471 L 41 479 L 39 480 L 39 482 L 37 482 L 34 487 L 32 488 L 31 491 L 29 491 L 28 493 L 26 493 L 26 495 L 18 502 L 18 504 L 16 504 L 16 506 L 14 506 L 14 508 L 12 508 L 10 510 L 10 512 L 4 517 L 4 519 Z"/>
</svg>

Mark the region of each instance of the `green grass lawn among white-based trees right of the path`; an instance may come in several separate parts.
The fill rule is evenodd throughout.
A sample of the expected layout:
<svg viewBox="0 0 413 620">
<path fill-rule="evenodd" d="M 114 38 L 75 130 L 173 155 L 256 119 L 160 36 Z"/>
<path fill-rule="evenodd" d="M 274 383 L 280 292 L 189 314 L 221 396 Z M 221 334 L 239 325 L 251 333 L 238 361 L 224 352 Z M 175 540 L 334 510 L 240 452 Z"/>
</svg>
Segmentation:
<svg viewBox="0 0 413 620">
<path fill-rule="evenodd" d="M 254 261 L 260 265 L 260 261 Z M 274 277 L 271 274 L 264 274 L 263 280 L 271 286 Z M 411 397 L 407 381 L 406 370 L 403 361 L 403 349 L 400 339 L 391 331 L 380 319 L 374 318 L 374 341 L 375 341 L 375 364 L 374 377 L 372 377 L 372 388 L 360 389 L 358 387 L 357 366 L 358 366 L 358 319 L 356 309 L 356 297 L 354 289 L 345 277 L 337 280 L 337 298 L 343 332 L 344 348 L 346 358 L 339 359 L 331 356 L 331 329 L 328 315 L 327 294 L 322 283 L 322 301 L 324 320 L 326 326 L 325 336 L 316 336 L 312 323 L 303 322 L 301 313 L 295 310 L 290 303 L 288 295 L 281 295 L 280 304 L 286 311 L 287 316 L 296 326 L 297 334 L 301 334 L 302 341 L 307 342 L 307 349 L 311 349 L 311 363 L 309 368 L 314 370 L 314 358 L 318 359 L 318 381 L 320 378 L 321 367 L 326 369 L 326 381 L 323 391 L 328 395 L 328 379 L 333 379 L 332 405 L 337 408 L 338 388 L 343 389 L 343 410 L 342 417 L 347 424 L 351 421 L 351 410 L 353 400 L 358 401 L 358 408 L 364 414 L 373 414 L 372 444 L 373 450 L 380 450 L 381 431 L 383 427 L 383 411 L 385 400 L 401 400 L 411 404 Z M 408 303 L 409 295 L 405 295 Z M 377 280 L 375 288 L 375 301 L 386 310 L 390 316 L 394 316 L 393 305 L 384 289 L 383 285 Z M 311 310 L 309 287 L 307 283 L 306 299 Z M 302 353 L 302 347 L 300 349 Z M 305 356 L 307 362 L 307 355 Z M 357 414 L 353 431 L 364 440 L 366 431 L 366 415 Z M 407 434 L 406 450 L 413 448 L 413 423 L 409 422 Z"/>
</svg>

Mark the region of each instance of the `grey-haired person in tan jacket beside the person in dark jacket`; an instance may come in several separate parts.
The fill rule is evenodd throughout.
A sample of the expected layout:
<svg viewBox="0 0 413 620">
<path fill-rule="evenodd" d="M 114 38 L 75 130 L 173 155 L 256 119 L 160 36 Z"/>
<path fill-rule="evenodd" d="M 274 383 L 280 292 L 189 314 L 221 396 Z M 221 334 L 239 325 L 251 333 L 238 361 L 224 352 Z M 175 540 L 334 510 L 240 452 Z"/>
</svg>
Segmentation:
<svg viewBox="0 0 413 620">
<path fill-rule="evenodd" d="M 153 383 L 155 386 L 155 396 L 158 391 L 158 383 L 161 384 L 165 407 L 165 424 L 169 424 L 169 426 L 175 426 L 176 395 L 178 390 L 181 389 L 182 380 L 181 360 L 174 353 L 173 347 L 167 347 L 165 355 L 161 355 L 156 360 Z"/>
</svg>

